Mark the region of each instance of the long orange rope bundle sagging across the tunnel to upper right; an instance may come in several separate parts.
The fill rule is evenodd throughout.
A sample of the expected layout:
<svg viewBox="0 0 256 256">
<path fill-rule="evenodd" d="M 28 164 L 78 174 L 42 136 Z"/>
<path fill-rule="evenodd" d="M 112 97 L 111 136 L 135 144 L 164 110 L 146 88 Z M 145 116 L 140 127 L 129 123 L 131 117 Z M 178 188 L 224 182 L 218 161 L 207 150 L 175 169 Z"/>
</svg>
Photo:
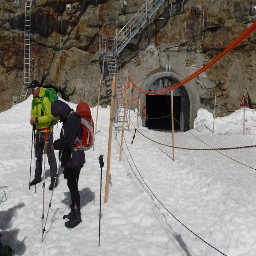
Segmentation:
<svg viewBox="0 0 256 256">
<path fill-rule="evenodd" d="M 138 86 L 136 86 L 135 83 L 132 82 L 131 77 L 129 77 L 130 82 L 132 85 L 141 93 L 143 94 L 150 94 L 150 95 L 156 95 L 156 94 L 162 94 L 162 93 L 167 93 L 168 91 L 172 91 L 183 84 L 189 82 L 190 80 L 196 78 L 199 76 L 201 73 L 203 73 L 206 69 L 210 68 L 212 65 L 214 65 L 218 60 L 223 58 L 226 54 L 228 54 L 231 50 L 233 50 L 238 44 L 240 44 L 248 35 L 250 35 L 254 30 L 256 29 L 256 22 L 254 22 L 248 29 L 244 31 L 234 42 L 232 42 L 225 50 L 223 50 L 218 56 L 216 56 L 213 60 L 211 60 L 208 64 L 206 64 L 204 67 L 200 68 L 198 71 L 193 73 L 192 75 L 188 76 L 187 78 L 181 80 L 180 82 L 177 82 L 169 87 L 167 89 L 158 89 L 158 90 L 145 90 L 142 89 Z M 153 91 L 159 91 L 157 93 L 150 93 Z"/>
</svg>

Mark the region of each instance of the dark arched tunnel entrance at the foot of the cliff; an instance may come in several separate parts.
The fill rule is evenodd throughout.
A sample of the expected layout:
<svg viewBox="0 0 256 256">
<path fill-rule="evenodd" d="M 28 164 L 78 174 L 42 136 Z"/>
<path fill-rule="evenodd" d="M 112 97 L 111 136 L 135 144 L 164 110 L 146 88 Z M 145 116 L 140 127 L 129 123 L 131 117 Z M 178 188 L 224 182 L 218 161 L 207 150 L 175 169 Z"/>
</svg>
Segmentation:
<svg viewBox="0 0 256 256">
<path fill-rule="evenodd" d="M 178 81 L 174 79 L 158 79 L 154 82 L 155 90 L 156 84 L 174 84 Z M 165 86 L 163 86 L 165 87 Z M 174 131 L 187 131 L 189 129 L 189 98 L 186 89 L 181 86 L 173 90 L 173 117 L 174 117 Z M 145 103 L 145 127 L 155 130 L 172 130 L 171 117 L 171 93 L 146 95 Z"/>
</svg>

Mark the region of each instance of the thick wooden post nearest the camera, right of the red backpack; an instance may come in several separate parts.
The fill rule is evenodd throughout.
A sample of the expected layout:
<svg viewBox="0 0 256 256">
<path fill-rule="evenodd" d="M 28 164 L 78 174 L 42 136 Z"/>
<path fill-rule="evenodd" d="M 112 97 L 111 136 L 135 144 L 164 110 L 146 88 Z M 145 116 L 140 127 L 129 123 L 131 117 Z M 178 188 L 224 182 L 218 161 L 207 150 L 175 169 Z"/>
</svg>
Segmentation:
<svg viewBox="0 0 256 256">
<path fill-rule="evenodd" d="M 104 203 L 108 202 L 108 194 L 109 194 L 109 169 L 110 169 L 111 140 L 112 140 L 112 127 L 113 127 L 113 115 L 114 115 L 114 94 L 115 94 L 115 91 L 116 91 L 116 76 L 113 76 L 111 109 L 110 109 L 110 120 L 109 120 L 108 159 L 107 159 L 107 173 L 106 173 L 106 185 L 105 185 L 105 200 L 104 200 Z"/>
</svg>

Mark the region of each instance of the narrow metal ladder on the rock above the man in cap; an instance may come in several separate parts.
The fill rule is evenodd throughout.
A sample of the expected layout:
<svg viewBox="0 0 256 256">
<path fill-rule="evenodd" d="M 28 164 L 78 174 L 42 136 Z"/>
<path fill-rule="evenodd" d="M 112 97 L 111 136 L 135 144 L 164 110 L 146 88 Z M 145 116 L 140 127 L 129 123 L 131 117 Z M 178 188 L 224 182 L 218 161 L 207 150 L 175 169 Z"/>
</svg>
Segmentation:
<svg viewBox="0 0 256 256">
<path fill-rule="evenodd" d="M 26 99 L 30 83 L 30 23 L 31 23 L 31 5 L 33 0 L 26 0 L 25 3 L 25 29 L 24 29 L 24 84 L 20 94 Z"/>
</svg>

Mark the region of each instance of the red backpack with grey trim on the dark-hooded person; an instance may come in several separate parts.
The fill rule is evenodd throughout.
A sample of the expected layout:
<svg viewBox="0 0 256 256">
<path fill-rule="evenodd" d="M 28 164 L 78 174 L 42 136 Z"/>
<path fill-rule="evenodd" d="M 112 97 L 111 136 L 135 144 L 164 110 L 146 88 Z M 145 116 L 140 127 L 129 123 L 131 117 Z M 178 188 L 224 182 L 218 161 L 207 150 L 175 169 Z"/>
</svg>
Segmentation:
<svg viewBox="0 0 256 256">
<path fill-rule="evenodd" d="M 89 150 L 93 147 L 94 150 L 94 123 L 89 105 L 85 102 L 80 102 L 76 107 L 76 113 L 78 113 L 81 118 L 82 140 L 80 141 L 76 137 L 79 146 L 76 143 L 75 150 L 81 149 L 81 147 L 83 150 Z"/>
</svg>

